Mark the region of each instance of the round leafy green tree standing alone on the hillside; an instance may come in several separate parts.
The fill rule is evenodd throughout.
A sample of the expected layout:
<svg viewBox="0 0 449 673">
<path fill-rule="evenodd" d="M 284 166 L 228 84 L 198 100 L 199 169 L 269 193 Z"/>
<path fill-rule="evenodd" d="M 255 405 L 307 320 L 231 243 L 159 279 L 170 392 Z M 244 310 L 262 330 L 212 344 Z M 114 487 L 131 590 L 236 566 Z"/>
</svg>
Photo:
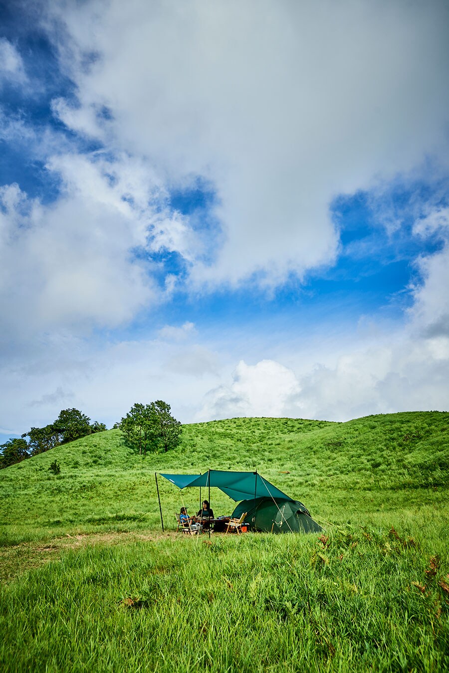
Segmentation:
<svg viewBox="0 0 449 673">
<path fill-rule="evenodd" d="M 131 446 L 146 456 L 147 451 L 168 451 L 180 443 L 182 427 L 170 415 L 170 404 L 157 400 L 150 404 L 133 404 L 118 427 Z"/>
</svg>

